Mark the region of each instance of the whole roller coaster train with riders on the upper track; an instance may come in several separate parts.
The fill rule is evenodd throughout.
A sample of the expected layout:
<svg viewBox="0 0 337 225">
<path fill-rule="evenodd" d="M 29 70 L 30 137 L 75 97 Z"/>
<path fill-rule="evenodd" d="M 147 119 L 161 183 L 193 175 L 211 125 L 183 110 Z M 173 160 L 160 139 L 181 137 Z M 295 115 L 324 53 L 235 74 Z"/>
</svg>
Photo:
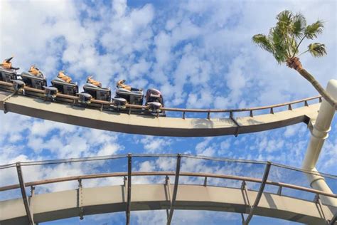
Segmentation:
<svg viewBox="0 0 337 225">
<path fill-rule="evenodd" d="M 5 69 L 1 66 L 0 73 L 1 81 L 13 83 L 14 90 L 23 90 L 21 92 L 23 95 L 43 95 L 46 100 L 76 103 L 88 108 L 100 108 L 101 110 L 166 116 L 165 112 L 161 110 L 164 107 L 163 95 L 154 88 L 146 90 L 145 101 L 142 90 L 127 90 L 118 87 L 114 98 L 112 98 L 110 88 L 100 88 L 91 83 L 85 83 L 83 91 L 79 92 L 77 83 L 67 83 L 60 78 L 51 80 L 51 85 L 48 86 L 47 79 L 42 74 L 37 76 L 23 72 L 19 75 L 15 69 Z M 26 88 L 29 90 L 24 90 L 23 87 L 29 87 Z M 127 104 L 131 106 L 127 107 Z"/>
</svg>

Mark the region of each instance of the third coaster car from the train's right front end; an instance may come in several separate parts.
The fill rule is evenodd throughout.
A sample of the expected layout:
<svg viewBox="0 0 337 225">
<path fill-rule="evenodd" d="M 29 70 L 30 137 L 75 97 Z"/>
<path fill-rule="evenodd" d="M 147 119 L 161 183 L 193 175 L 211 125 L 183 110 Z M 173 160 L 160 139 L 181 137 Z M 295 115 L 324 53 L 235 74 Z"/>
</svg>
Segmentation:
<svg viewBox="0 0 337 225">
<path fill-rule="evenodd" d="M 109 102 L 111 100 L 110 88 L 100 88 L 91 83 L 83 86 L 84 92 L 80 93 L 80 103 L 89 104 L 91 99 L 103 100 Z"/>
</svg>

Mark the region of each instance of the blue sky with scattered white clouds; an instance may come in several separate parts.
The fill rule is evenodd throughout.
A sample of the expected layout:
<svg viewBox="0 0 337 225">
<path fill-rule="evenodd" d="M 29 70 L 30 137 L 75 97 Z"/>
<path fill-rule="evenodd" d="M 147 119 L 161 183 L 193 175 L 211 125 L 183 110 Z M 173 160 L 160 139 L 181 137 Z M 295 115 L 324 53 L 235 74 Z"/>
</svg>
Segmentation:
<svg viewBox="0 0 337 225">
<path fill-rule="evenodd" d="M 1 1 L 0 9 L 0 58 L 14 55 L 20 72 L 36 64 L 48 80 L 63 69 L 80 86 L 87 75 L 95 75 L 103 86 L 112 88 L 124 78 L 139 88 L 158 88 L 169 107 L 246 108 L 317 95 L 295 70 L 278 65 L 252 44 L 252 36 L 267 33 L 284 9 L 301 11 L 308 23 L 325 21 L 317 41 L 326 44 L 328 55 L 312 58 L 307 54 L 301 62 L 323 86 L 336 79 L 335 1 Z M 174 138 L 92 130 L 12 113 L 0 114 L 0 122 L 0 164 L 181 152 L 301 167 L 310 135 L 305 124 L 238 137 Z M 337 174 L 336 129 L 335 118 L 319 158 L 321 172 Z M 137 212 L 132 218 L 134 224 L 151 219 L 160 223 L 164 214 Z M 177 224 L 185 223 L 182 218 L 196 224 L 240 224 L 237 214 L 179 211 L 175 216 L 181 218 Z M 124 214 L 50 224 L 92 221 L 124 223 Z M 263 221 L 257 217 L 252 224 Z"/>
</svg>

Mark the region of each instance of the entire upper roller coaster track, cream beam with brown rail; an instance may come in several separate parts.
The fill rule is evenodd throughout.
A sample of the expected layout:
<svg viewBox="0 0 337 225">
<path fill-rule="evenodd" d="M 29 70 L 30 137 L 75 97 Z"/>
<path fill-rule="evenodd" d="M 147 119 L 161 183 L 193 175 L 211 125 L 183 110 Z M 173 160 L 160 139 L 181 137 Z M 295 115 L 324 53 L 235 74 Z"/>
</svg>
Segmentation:
<svg viewBox="0 0 337 225">
<path fill-rule="evenodd" d="M 24 93 L 24 95 L 22 92 L 14 94 L 13 84 L 0 81 L 0 110 L 100 130 L 174 137 L 237 136 L 299 122 L 308 124 L 310 120 L 316 118 L 321 103 L 321 97 L 318 96 L 256 108 L 228 110 L 161 108 L 165 112 L 181 113 L 182 116 L 158 117 L 149 114 L 132 114 L 134 109 L 147 110 L 146 106 L 141 105 L 127 105 L 129 111 L 116 112 L 107 110 L 111 105 L 107 101 L 92 100 L 92 105 L 96 108 L 84 108 L 78 103 L 77 96 L 58 94 L 57 102 L 50 102 L 43 99 L 44 90 L 24 87 Z M 311 100 L 319 100 L 319 103 L 312 103 Z M 303 106 L 294 108 L 296 104 L 303 104 Z M 276 112 L 277 108 L 282 111 Z M 267 113 L 258 115 L 259 111 L 267 111 Z M 192 112 L 205 117 L 188 118 L 188 113 Z M 249 116 L 237 117 L 239 112 L 245 112 Z M 212 117 L 218 113 L 228 117 Z"/>
</svg>

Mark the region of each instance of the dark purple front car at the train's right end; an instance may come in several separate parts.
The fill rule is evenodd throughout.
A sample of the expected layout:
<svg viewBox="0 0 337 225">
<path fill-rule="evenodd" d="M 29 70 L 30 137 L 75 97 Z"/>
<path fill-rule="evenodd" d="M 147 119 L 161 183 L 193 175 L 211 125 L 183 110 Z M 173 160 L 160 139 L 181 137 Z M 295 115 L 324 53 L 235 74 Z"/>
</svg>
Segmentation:
<svg viewBox="0 0 337 225">
<path fill-rule="evenodd" d="M 165 112 L 161 110 L 161 108 L 164 107 L 164 99 L 159 90 L 149 88 L 146 91 L 145 105 L 149 107 L 151 113 L 160 113 L 161 116 L 166 115 Z"/>
</svg>

